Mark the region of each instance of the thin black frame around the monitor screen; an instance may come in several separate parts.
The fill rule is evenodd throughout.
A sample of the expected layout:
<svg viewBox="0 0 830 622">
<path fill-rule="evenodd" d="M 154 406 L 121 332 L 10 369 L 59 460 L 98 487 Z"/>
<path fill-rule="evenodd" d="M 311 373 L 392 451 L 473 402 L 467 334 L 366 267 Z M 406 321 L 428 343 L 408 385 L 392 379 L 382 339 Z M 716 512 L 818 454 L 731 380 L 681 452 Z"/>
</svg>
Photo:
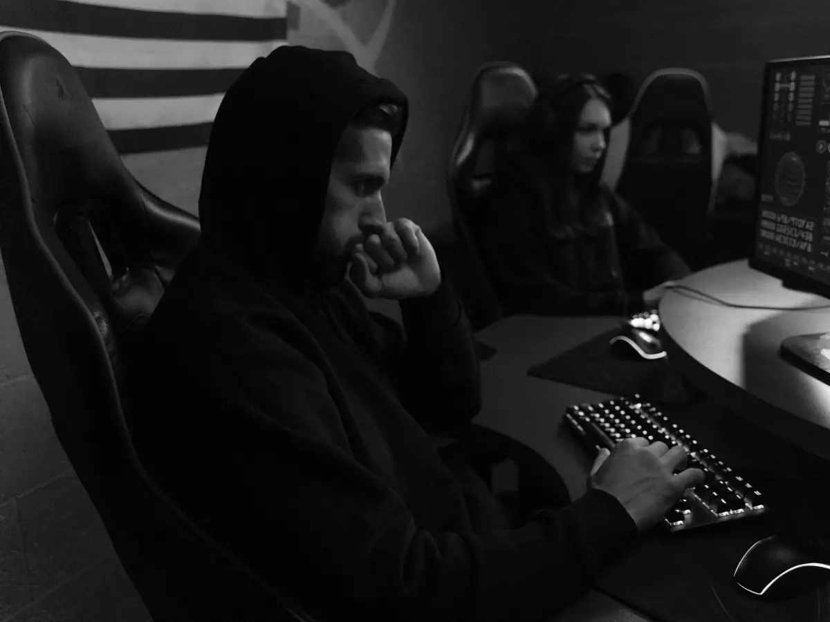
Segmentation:
<svg viewBox="0 0 830 622">
<path fill-rule="evenodd" d="M 767 115 L 769 114 L 769 102 L 767 101 L 767 94 L 769 93 L 770 75 L 776 67 L 792 65 L 797 63 L 802 66 L 827 64 L 830 65 L 830 56 L 801 56 L 795 58 L 782 58 L 774 61 L 767 61 L 764 63 L 764 80 L 761 85 L 761 119 L 758 130 L 758 181 L 755 182 L 754 202 L 755 202 L 755 223 L 754 223 L 754 241 L 752 245 L 752 254 L 749 255 L 749 267 L 754 270 L 759 270 L 764 274 L 774 276 L 776 279 L 781 279 L 784 285 L 792 287 L 793 289 L 803 289 L 811 291 L 815 294 L 830 298 L 830 284 L 822 283 L 817 279 L 812 279 L 807 275 L 800 275 L 792 271 L 775 265 L 769 261 L 764 260 L 758 256 L 758 230 L 761 218 L 761 166 L 764 162 L 764 144 L 766 133 L 764 129 L 767 125 Z"/>
</svg>

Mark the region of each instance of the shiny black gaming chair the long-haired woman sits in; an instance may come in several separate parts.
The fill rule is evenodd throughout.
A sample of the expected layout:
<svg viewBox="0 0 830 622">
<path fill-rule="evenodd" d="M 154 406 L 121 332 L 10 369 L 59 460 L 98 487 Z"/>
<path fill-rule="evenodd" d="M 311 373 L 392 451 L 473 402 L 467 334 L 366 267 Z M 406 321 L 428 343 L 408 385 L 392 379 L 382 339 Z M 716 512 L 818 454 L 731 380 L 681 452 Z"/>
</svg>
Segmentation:
<svg viewBox="0 0 830 622">
<path fill-rule="evenodd" d="M 520 66 L 508 62 L 481 66 L 450 155 L 447 191 L 452 224 L 458 243 L 467 249 L 473 264 L 468 279 L 457 279 L 457 289 L 475 328 L 483 328 L 502 315 L 478 243 L 481 209 L 501 161 L 520 147 L 516 130 L 536 93 L 533 79 Z"/>
</svg>

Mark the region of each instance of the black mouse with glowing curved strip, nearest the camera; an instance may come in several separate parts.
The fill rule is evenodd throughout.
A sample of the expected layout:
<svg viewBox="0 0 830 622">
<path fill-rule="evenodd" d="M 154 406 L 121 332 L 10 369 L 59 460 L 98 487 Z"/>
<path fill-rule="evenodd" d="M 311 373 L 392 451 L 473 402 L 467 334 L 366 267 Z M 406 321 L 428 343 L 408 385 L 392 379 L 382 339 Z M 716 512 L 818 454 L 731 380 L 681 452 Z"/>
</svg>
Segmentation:
<svg viewBox="0 0 830 622">
<path fill-rule="evenodd" d="M 744 553 L 734 578 L 752 595 L 789 598 L 830 580 L 830 557 L 790 538 L 765 537 Z"/>
</svg>

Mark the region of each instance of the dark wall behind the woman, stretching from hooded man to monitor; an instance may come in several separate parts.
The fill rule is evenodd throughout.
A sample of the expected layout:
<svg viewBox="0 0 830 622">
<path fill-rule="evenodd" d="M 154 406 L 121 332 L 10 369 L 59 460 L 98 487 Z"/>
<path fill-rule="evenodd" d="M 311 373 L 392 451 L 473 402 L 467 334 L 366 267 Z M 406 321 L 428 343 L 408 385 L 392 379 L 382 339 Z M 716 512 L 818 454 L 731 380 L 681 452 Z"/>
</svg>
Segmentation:
<svg viewBox="0 0 830 622">
<path fill-rule="evenodd" d="M 482 62 L 549 75 L 622 70 L 637 85 L 654 70 L 689 67 L 709 82 L 720 126 L 757 138 L 764 61 L 822 54 L 830 54 L 830 4 L 815 0 L 402 2 L 378 63 L 413 102 L 389 211 L 427 227 L 448 221 L 444 166 Z"/>
</svg>

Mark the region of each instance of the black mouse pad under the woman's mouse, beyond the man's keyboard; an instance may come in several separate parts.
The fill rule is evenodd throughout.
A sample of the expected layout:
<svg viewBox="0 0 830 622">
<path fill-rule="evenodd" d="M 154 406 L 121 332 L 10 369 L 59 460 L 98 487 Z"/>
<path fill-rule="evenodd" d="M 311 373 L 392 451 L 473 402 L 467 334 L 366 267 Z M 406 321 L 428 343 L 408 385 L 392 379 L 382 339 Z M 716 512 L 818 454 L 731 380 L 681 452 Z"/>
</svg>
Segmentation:
<svg viewBox="0 0 830 622">
<path fill-rule="evenodd" d="M 528 374 L 612 395 L 638 393 L 662 404 L 685 406 L 696 400 L 698 392 L 671 367 L 668 357 L 647 361 L 633 353 L 620 356 L 613 352 L 608 341 L 619 333 L 619 328 L 613 328 L 530 367 Z"/>
</svg>

